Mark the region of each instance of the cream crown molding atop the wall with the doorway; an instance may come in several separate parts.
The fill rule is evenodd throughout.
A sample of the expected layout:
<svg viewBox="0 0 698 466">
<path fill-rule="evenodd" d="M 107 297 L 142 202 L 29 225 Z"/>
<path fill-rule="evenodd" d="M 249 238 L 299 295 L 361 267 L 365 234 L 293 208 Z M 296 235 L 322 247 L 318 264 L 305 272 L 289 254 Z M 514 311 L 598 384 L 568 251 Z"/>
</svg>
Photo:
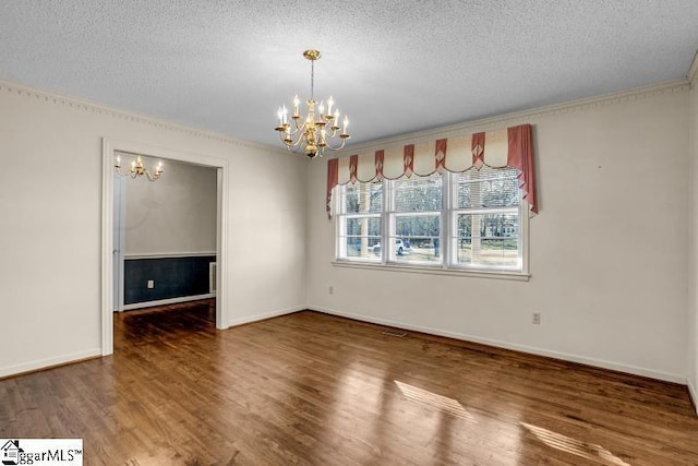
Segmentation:
<svg viewBox="0 0 698 466">
<path fill-rule="evenodd" d="M 224 144 L 237 145 L 237 146 L 246 147 L 246 148 L 261 150 L 265 152 L 286 154 L 286 151 L 279 150 L 278 147 L 257 144 L 251 141 L 238 140 L 221 133 L 205 131 L 198 128 L 188 127 L 184 124 L 178 124 L 178 123 L 158 119 L 148 115 L 131 112 L 131 111 L 122 110 L 116 107 L 110 107 L 105 104 L 99 104 L 93 100 L 87 100 L 80 97 L 68 96 L 64 94 L 29 87 L 24 84 L 13 83 L 10 81 L 0 80 L 0 92 L 17 95 L 17 96 L 25 96 L 28 98 L 35 98 L 37 100 L 44 100 L 49 104 L 68 107 L 77 111 L 103 115 L 117 120 L 132 121 L 139 124 L 148 126 L 152 128 L 157 128 L 166 131 L 172 131 L 176 133 L 185 134 L 194 138 L 201 138 L 208 141 L 215 141 Z"/>
</svg>

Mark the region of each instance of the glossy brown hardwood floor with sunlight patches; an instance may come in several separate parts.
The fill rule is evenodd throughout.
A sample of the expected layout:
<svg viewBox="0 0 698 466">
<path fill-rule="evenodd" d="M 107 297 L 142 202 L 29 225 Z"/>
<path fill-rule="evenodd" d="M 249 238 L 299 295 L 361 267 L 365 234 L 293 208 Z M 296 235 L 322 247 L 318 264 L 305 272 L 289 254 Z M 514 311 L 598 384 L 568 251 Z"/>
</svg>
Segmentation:
<svg viewBox="0 0 698 466">
<path fill-rule="evenodd" d="M 698 465 L 681 385 L 310 311 L 214 320 L 115 315 L 112 357 L 0 381 L 0 438 L 82 438 L 86 465 Z"/>
</svg>

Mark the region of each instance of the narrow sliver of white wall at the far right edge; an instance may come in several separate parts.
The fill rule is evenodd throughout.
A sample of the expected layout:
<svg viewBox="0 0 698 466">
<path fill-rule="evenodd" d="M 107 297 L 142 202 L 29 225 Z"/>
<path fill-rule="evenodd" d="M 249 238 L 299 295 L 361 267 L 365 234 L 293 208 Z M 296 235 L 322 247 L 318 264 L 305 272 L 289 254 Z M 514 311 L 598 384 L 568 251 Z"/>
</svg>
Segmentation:
<svg viewBox="0 0 698 466">
<path fill-rule="evenodd" d="M 698 55 L 691 67 L 689 93 L 690 136 L 690 248 L 688 274 L 688 390 L 698 410 Z"/>
</svg>

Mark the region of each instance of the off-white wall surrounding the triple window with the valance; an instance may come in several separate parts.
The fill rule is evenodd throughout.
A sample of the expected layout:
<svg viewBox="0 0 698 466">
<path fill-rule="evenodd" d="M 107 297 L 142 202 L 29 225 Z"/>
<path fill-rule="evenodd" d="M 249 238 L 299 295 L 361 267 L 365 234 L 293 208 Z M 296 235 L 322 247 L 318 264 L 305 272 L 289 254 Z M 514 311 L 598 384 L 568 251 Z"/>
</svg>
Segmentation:
<svg viewBox="0 0 698 466">
<path fill-rule="evenodd" d="M 534 126 L 541 207 L 529 282 L 332 265 L 323 163 L 309 169 L 309 306 L 685 383 L 687 85 L 462 130 L 525 122 Z"/>
</svg>

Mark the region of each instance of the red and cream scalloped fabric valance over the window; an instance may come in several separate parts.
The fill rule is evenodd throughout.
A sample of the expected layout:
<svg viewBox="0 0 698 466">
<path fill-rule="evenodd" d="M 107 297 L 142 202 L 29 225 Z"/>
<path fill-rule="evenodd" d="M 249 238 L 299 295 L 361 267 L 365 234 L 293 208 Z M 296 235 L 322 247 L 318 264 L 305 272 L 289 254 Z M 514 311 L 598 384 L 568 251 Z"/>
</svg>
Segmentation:
<svg viewBox="0 0 698 466">
<path fill-rule="evenodd" d="M 531 212 L 538 213 L 530 124 L 422 144 L 389 146 L 327 162 L 328 215 L 332 190 L 337 184 L 411 177 L 412 174 L 428 176 L 444 170 L 460 172 L 480 169 L 483 165 L 516 168 L 524 199 L 528 201 Z"/>
</svg>

